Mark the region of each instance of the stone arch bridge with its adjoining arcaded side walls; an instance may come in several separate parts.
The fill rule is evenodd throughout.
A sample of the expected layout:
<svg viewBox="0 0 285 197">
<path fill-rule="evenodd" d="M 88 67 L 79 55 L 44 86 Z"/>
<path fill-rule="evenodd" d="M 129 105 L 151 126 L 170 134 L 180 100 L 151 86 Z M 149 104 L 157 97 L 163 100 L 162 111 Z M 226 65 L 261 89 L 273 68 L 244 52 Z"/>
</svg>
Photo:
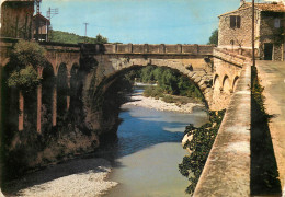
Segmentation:
<svg viewBox="0 0 285 197">
<path fill-rule="evenodd" d="M 9 54 L 16 42 L 16 39 L 1 39 L 3 66 L 9 61 Z M 56 83 L 64 81 L 65 84 L 65 86 L 54 85 L 53 90 L 48 90 L 53 94 L 50 109 L 53 126 L 56 126 L 60 108 L 58 103 L 64 104 L 64 111 L 68 112 L 70 100 L 72 100 L 72 84 L 75 83 L 72 80 L 76 80 L 79 67 L 87 67 L 84 63 L 80 63 L 82 59 L 91 58 L 98 62 L 96 76 L 100 81 L 137 66 L 151 65 L 179 70 L 200 88 L 210 109 L 227 107 L 246 62 L 244 57 L 214 48 L 212 45 L 70 45 L 58 43 L 41 43 L 41 45 L 47 50 L 48 63 L 45 67 L 38 67 L 38 77 L 42 79 L 42 85 L 37 90 L 38 132 L 41 132 L 42 121 L 42 92 L 50 89 L 50 85 L 46 85 L 46 81 L 53 78 Z M 62 101 L 59 101 L 57 95 L 62 92 L 60 89 L 69 90 L 69 93 L 64 93 L 66 96 Z M 21 112 L 24 111 L 23 103 L 23 97 L 20 97 Z M 23 114 L 19 118 L 20 130 L 24 127 Z"/>
</svg>

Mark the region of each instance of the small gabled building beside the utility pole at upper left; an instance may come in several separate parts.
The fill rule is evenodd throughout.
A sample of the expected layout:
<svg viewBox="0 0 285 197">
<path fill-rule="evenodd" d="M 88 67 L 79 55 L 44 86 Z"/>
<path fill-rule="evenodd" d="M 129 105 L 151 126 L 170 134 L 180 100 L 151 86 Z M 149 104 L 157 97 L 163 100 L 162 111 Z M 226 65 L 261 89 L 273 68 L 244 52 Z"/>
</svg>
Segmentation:
<svg viewBox="0 0 285 197">
<path fill-rule="evenodd" d="M 48 40 L 48 27 L 50 21 L 43 16 L 41 13 L 34 15 L 33 18 L 33 37 L 36 40 Z"/>
</svg>

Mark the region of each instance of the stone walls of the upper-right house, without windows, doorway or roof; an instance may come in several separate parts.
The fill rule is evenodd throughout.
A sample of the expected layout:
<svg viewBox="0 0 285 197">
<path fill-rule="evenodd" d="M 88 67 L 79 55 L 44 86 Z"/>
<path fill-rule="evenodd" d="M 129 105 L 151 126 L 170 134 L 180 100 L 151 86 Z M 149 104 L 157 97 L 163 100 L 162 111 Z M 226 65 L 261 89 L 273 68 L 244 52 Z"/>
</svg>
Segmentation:
<svg viewBox="0 0 285 197">
<path fill-rule="evenodd" d="M 241 18 L 240 28 L 230 27 L 230 15 Z M 274 20 L 281 19 L 281 27 L 274 27 Z M 284 60 L 284 13 L 265 12 L 255 9 L 255 57 L 264 59 L 264 43 L 273 44 L 273 60 Z M 282 27 L 283 26 L 283 27 Z M 240 8 L 219 16 L 219 48 L 239 50 L 242 55 L 251 55 L 252 8 Z M 242 49 L 241 49 L 242 48 Z"/>
</svg>

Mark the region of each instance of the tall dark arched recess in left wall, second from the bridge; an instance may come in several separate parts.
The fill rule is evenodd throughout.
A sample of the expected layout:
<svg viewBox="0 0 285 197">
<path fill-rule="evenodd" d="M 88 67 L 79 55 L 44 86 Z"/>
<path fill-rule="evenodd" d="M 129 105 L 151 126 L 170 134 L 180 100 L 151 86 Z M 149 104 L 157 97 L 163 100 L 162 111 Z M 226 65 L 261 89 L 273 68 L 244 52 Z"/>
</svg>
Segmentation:
<svg viewBox="0 0 285 197">
<path fill-rule="evenodd" d="M 57 121 L 65 118 L 67 113 L 68 74 L 66 63 L 60 63 L 57 72 Z"/>
</svg>

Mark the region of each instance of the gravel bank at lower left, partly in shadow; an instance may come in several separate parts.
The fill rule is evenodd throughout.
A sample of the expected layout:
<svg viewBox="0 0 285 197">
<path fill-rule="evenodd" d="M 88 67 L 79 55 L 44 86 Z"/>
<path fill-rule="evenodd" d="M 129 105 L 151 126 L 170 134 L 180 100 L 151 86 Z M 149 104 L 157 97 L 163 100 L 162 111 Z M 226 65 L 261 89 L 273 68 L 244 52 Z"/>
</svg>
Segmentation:
<svg viewBox="0 0 285 197">
<path fill-rule="evenodd" d="M 117 185 L 105 181 L 111 164 L 104 159 L 77 159 L 31 173 L 9 184 L 5 196 L 101 196 Z"/>
</svg>

